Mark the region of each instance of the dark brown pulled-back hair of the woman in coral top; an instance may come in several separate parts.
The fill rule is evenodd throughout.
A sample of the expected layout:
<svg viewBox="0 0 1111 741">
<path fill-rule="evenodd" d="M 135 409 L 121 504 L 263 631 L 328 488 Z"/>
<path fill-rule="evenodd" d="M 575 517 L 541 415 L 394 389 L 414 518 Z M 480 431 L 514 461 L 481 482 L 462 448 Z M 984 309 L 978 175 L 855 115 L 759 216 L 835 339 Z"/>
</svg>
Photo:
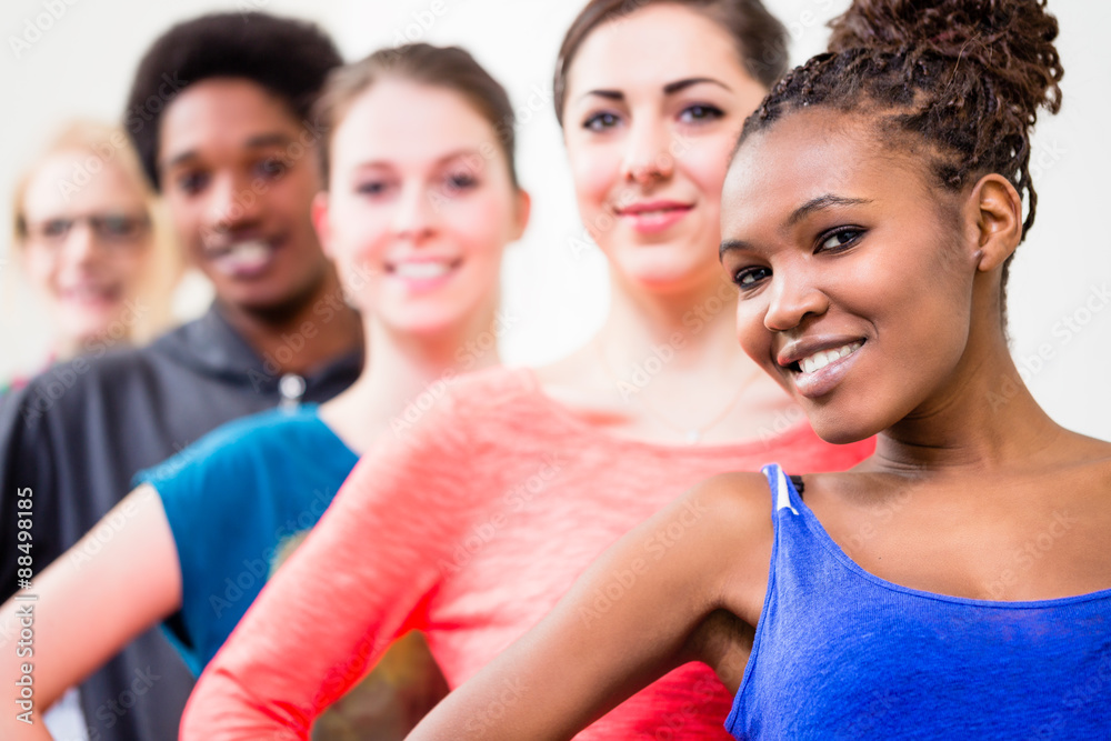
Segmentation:
<svg viewBox="0 0 1111 741">
<path fill-rule="evenodd" d="M 760 0 L 590 0 L 567 30 L 556 61 L 553 100 L 560 126 L 567 78 L 582 42 L 599 26 L 661 2 L 692 8 L 721 26 L 733 37 L 744 69 L 765 88 L 787 71 L 787 29 Z"/>
</svg>

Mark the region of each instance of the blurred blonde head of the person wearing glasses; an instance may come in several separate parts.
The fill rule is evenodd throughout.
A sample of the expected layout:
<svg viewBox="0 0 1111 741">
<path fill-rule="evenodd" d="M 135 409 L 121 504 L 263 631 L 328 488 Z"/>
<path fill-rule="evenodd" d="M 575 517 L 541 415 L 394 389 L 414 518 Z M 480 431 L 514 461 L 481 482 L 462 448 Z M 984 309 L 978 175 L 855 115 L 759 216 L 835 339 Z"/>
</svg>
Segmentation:
<svg viewBox="0 0 1111 741">
<path fill-rule="evenodd" d="M 12 206 L 22 270 L 8 280 L 26 277 L 53 330 L 40 364 L 142 343 L 170 324 L 181 252 L 122 130 L 67 124 L 17 183 Z"/>
</svg>

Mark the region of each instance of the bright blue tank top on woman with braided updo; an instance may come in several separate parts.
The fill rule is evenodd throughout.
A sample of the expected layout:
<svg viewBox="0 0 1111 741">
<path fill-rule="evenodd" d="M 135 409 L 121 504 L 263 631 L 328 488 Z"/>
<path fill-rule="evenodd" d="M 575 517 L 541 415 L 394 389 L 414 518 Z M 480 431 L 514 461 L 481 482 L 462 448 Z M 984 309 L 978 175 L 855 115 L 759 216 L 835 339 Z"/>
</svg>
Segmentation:
<svg viewBox="0 0 1111 741">
<path fill-rule="evenodd" d="M 1111 589 L 1032 602 L 879 579 L 778 465 L 775 535 L 738 739 L 1111 739 Z"/>
</svg>

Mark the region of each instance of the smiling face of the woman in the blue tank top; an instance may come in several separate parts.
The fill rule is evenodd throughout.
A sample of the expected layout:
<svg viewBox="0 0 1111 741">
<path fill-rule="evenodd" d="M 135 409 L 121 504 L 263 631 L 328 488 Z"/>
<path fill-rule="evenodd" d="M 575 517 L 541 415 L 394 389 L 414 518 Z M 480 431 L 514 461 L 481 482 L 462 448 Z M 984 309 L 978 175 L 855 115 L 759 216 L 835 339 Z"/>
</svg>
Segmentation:
<svg viewBox="0 0 1111 741">
<path fill-rule="evenodd" d="M 860 118 L 778 121 L 741 147 L 722 196 L 741 344 L 831 442 L 929 413 L 959 384 L 973 318 L 958 197 Z"/>
</svg>

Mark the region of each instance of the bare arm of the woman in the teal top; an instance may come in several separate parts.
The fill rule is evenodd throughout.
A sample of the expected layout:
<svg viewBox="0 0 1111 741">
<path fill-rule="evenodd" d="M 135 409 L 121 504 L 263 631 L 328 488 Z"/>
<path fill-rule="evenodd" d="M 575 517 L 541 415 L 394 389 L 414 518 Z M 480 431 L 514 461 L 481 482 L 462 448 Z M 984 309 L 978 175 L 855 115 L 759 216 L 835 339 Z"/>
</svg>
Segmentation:
<svg viewBox="0 0 1111 741">
<path fill-rule="evenodd" d="M 0 685 L 14 688 L 32 665 L 34 724 L 17 720 L 7 699 L 0 737 L 49 739 L 42 712 L 181 605 L 178 550 L 158 492 L 137 488 L 19 594 L 0 608 Z M 32 653 L 20 657 L 27 622 L 33 638 L 23 653 Z"/>
</svg>

